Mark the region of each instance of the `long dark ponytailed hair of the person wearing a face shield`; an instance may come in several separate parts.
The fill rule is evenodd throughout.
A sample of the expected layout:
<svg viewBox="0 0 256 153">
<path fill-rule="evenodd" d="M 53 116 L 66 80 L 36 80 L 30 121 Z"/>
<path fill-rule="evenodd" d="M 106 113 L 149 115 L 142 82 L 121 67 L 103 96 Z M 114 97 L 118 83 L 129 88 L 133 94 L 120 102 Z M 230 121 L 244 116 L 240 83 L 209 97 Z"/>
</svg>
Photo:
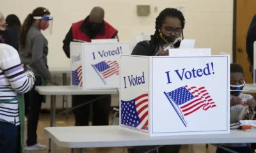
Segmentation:
<svg viewBox="0 0 256 153">
<path fill-rule="evenodd" d="M 50 14 L 51 14 L 50 11 L 47 10 L 46 8 L 38 7 L 26 17 L 26 19 L 24 20 L 20 28 L 20 34 L 19 34 L 19 43 L 21 47 L 23 48 L 26 47 L 26 37 L 28 34 L 28 30 L 31 27 L 31 25 L 35 22 L 35 19 L 33 17 L 42 17 L 44 15 L 50 15 Z"/>
</svg>

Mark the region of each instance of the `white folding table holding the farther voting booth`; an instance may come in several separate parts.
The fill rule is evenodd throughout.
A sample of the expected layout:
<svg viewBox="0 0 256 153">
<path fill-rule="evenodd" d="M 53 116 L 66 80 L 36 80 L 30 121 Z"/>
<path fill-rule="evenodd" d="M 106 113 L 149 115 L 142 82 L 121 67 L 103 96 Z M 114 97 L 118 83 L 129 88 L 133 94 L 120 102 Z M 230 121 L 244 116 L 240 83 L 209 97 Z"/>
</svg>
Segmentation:
<svg viewBox="0 0 256 153">
<path fill-rule="evenodd" d="M 82 90 L 71 86 L 36 86 L 36 91 L 41 95 L 51 96 L 51 121 L 50 126 L 56 126 L 56 96 L 57 95 L 93 95 L 93 94 L 119 94 L 117 89 L 101 89 L 101 90 Z M 100 99 L 100 98 L 97 98 Z M 87 101 L 87 103 L 92 103 L 97 99 L 92 101 Z M 49 150 L 51 150 L 51 139 L 49 140 Z"/>
</svg>

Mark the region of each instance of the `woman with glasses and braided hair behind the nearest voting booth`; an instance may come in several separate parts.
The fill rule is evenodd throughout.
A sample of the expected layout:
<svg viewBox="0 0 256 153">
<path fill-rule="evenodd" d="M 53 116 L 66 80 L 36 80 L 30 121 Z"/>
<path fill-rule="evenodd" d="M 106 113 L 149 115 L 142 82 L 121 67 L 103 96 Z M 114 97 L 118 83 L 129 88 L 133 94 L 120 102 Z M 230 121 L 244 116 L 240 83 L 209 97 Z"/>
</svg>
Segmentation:
<svg viewBox="0 0 256 153">
<path fill-rule="evenodd" d="M 166 8 L 156 18 L 156 32 L 150 41 L 141 41 L 132 50 L 132 55 L 168 55 L 169 48 L 179 48 L 183 39 L 185 18 L 181 11 Z M 158 149 L 159 153 L 179 153 L 181 145 L 165 145 Z M 157 152 L 156 146 L 134 147 L 131 152 Z"/>
</svg>

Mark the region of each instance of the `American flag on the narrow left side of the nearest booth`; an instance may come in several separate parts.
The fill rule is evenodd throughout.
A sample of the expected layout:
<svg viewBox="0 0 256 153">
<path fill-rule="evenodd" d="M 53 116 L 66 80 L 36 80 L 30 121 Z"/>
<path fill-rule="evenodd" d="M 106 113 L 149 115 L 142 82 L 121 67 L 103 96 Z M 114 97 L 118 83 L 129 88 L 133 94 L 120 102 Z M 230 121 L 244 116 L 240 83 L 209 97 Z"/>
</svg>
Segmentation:
<svg viewBox="0 0 256 153">
<path fill-rule="evenodd" d="M 148 129 L 148 94 L 141 94 L 130 101 L 121 100 L 121 124 Z"/>
</svg>

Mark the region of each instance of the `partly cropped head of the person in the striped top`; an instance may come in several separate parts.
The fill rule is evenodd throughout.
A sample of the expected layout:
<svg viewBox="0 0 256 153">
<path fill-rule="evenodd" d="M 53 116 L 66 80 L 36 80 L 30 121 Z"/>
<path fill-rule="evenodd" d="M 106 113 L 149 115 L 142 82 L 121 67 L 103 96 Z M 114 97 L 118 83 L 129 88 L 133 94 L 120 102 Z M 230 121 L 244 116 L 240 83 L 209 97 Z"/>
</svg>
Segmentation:
<svg viewBox="0 0 256 153">
<path fill-rule="evenodd" d="M 0 12 L 0 43 L 10 45 L 11 38 L 7 30 L 7 24 L 5 22 L 4 15 Z"/>
</svg>

